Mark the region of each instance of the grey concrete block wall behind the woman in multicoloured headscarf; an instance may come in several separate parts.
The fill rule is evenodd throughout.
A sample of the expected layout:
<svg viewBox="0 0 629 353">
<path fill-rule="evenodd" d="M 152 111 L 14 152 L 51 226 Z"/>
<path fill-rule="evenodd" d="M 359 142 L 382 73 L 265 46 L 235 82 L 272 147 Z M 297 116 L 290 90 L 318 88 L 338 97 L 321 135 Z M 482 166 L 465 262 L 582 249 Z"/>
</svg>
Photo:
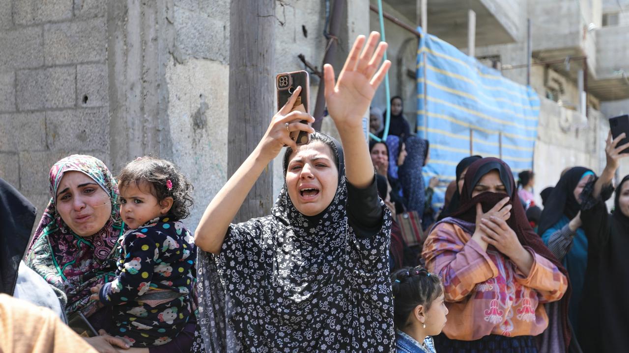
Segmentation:
<svg viewBox="0 0 629 353">
<path fill-rule="evenodd" d="M 109 163 L 105 3 L 0 1 L 0 177 L 39 214 L 55 161 Z"/>
</svg>

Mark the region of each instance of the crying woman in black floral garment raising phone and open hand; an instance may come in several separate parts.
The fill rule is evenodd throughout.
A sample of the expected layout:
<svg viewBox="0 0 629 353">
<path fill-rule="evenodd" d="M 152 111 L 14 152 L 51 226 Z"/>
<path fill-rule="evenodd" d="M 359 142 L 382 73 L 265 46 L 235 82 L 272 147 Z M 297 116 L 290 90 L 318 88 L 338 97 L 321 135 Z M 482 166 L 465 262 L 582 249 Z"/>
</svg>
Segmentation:
<svg viewBox="0 0 629 353">
<path fill-rule="evenodd" d="M 389 352 L 394 342 L 391 215 L 377 196 L 362 116 L 391 66 L 386 43 L 359 36 L 325 98 L 342 144 L 299 122 L 291 99 L 208 205 L 195 241 L 206 349 L 221 352 Z M 311 134 L 297 146 L 292 131 Z M 285 183 L 272 214 L 231 224 L 284 146 Z M 344 152 L 343 152 L 344 151 Z"/>
</svg>

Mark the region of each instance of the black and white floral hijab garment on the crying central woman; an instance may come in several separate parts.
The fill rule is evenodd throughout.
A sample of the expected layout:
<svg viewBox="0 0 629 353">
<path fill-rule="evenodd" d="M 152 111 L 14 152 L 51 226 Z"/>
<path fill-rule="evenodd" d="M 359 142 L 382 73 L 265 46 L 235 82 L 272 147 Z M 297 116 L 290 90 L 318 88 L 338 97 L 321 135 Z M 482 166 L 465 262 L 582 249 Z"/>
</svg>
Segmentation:
<svg viewBox="0 0 629 353">
<path fill-rule="evenodd" d="M 219 256 L 199 251 L 208 352 L 392 350 L 391 215 L 383 212 L 375 236 L 357 237 L 348 224 L 342 148 L 325 134 L 313 134 L 316 140 L 330 146 L 339 175 L 323 212 L 299 213 L 285 183 L 271 215 L 231 224 Z"/>
</svg>

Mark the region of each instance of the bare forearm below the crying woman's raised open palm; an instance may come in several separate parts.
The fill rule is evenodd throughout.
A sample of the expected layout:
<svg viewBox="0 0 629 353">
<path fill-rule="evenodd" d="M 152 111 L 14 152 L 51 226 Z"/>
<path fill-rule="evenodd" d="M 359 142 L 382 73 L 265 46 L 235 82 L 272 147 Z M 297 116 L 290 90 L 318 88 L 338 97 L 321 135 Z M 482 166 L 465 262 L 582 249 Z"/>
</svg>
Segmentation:
<svg viewBox="0 0 629 353">
<path fill-rule="evenodd" d="M 345 173 L 347 181 L 354 187 L 368 187 L 374 180 L 374 165 L 369 155 L 362 126 L 337 126 L 345 153 Z"/>
</svg>

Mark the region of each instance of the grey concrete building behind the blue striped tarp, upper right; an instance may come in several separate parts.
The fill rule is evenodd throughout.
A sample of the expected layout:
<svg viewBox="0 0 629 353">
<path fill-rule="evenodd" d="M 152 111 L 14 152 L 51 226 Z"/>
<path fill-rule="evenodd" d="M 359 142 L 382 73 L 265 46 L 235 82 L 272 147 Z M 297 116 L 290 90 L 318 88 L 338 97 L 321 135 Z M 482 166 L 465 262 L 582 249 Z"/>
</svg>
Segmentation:
<svg viewBox="0 0 629 353">
<path fill-rule="evenodd" d="M 417 6 L 416 0 L 386 0 L 384 11 L 416 26 L 420 23 Z M 625 75 L 629 70 L 629 1 L 428 0 L 427 8 L 428 33 L 466 53 L 468 12 L 472 9 L 476 13 L 476 58 L 523 85 L 527 84 L 526 19 L 533 19 L 530 85 L 542 100 L 534 155 L 535 190 L 554 185 L 568 166 L 587 166 L 597 173 L 603 170 L 607 119 L 629 114 L 629 79 Z M 379 29 L 376 13 L 370 16 L 370 28 Z M 391 21 L 385 21 L 385 31 L 389 58 L 397 63 L 389 73 L 392 94 L 404 97 L 404 111 L 413 125 L 418 41 Z M 582 90 L 587 90 L 587 95 Z M 382 89 L 376 98 L 375 105 L 385 106 Z M 619 175 L 628 173 L 629 160 L 623 160 Z"/>
</svg>

